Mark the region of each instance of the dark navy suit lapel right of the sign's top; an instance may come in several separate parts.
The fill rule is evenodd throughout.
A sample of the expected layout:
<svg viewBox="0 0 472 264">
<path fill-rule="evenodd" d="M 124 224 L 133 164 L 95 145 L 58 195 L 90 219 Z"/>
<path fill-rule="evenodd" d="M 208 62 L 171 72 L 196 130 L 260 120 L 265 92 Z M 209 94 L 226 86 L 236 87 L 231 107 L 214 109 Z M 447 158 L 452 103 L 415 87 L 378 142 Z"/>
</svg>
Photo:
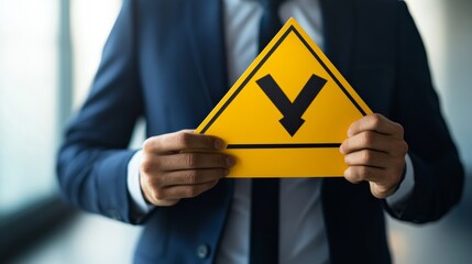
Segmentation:
<svg viewBox="0 0 472 264">
<path fill-rule="evenodd" d="M 345 77 L 351 70 L 354 1 L 321 0 L 326 53 Z"/>
</svg>

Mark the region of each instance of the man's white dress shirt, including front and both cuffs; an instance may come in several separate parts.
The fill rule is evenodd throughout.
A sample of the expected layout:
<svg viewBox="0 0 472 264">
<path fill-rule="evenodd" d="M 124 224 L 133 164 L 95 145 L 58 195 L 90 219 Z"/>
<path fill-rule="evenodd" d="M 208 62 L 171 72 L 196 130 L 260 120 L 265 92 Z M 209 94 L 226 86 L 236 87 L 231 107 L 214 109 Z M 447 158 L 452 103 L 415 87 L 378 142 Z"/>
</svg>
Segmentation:
<svg viewBox="0 0 472 264">
<path fill-rule="evenodd" d="M 290 16 L 323 48 L 322 14 L 318 0 L 287 0 L 279 8 L 284 23 Z M 257 55 L 262 7 L 255 0 L 223 0 L 224 37 L 230 85 Z M 128 165 L 128 188 L 135 210 L 149 212 L 140 188 L 141 151 Z M 408 197 L 414 186 L 413 164 L 406 156 L 407 174 L 400 188 L 387 199 L 393 209 Z M 329 249 L 320 199 L 320 178 L 283 178 L 279 191 L 279 263 L 329 263 Z M 249 263 L 251 179 L 238 179 L 217 263 Z"/>
</svg>

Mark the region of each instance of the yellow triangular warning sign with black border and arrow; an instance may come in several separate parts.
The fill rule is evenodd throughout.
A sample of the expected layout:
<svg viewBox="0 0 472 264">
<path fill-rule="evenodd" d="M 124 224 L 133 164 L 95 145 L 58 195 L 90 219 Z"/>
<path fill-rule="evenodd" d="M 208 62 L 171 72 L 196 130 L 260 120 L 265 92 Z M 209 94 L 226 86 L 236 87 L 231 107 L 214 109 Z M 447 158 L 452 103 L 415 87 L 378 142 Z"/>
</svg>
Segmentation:
<svg viewBox="0 0 472 264">
<path fill-rule="evenodd" d="M 227 142 L 231 177 L 342 176 L 339 145 L 371 112 L 289 19 L 196 132 Z"/>
</svg>

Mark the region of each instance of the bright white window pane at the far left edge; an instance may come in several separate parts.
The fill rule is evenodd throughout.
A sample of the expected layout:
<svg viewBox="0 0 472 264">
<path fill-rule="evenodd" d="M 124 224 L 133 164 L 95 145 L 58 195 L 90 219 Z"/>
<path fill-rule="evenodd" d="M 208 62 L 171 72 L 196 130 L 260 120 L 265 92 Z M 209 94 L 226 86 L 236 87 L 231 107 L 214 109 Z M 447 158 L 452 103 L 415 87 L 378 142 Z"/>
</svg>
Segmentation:
<svg viewBox="0 0 472 264">
<path fill-rule="evenodd" d="M 55 193 L 58 1 L 0 0 L 0 220 Z"/>
</svg>

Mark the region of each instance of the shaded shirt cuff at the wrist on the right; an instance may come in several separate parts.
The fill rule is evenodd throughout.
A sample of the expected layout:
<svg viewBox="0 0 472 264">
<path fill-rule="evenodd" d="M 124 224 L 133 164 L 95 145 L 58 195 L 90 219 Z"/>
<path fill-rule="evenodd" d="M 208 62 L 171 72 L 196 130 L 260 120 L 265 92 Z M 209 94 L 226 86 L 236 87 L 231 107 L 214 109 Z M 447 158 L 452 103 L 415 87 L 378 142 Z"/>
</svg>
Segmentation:
<svg viewBox="0 0 472 264">
<path fill-rule="evenodd" d="M 389 208 L 396 212 L 402 212 L 415 187 L 415 170 L 411 158 L 408 154 L 405 155 L 405 178 L 400 183 L 398 189 L 392 196 L 386 198 Z"/>
</svg>

